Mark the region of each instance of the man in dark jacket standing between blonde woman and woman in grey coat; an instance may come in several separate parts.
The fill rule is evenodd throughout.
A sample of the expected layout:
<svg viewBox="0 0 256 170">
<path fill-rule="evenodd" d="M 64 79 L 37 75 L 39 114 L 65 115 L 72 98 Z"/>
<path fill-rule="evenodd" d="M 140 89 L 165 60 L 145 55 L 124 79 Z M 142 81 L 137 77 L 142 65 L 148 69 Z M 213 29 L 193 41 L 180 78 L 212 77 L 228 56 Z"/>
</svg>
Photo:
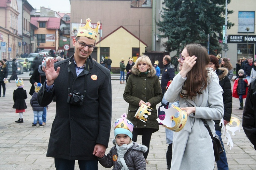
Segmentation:
<svg viewBox="0 0 256 170">
<path fill-rule="evenodd" d="M 163 57 L 163 71 L 162 71 L 162 79 L 161 79 L 161 89 L 162 93 L 165 94 L 167 82 L 173 80 L 175 76 L 174 68 L 171 65 L 171 57 L 166 55 Z"/>
</svg>

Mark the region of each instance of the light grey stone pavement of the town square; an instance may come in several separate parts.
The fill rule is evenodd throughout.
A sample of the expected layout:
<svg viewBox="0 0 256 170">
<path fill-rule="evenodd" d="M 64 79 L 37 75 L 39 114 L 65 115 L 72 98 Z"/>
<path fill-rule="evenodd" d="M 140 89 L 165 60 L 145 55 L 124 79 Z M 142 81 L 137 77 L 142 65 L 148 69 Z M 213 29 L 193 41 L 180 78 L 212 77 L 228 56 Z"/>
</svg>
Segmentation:
<svg viewBox="0 0 256 170">
<path fill-rule="evenodd" d="M 28 80 L 24 80 L 24 84 L 24 89 L 27 90 L 28 95 L 28 98 L 26 99 L 28 108 L 26 109 L 26 112 L 24 112 L 24 123 L 17 124 L 14 122 L 19 118 L 19 115 L 15 114 L 15 109 L 12 108 L 13 90 L 16 89 L 14 81 L 6 84 L 5 97 L 0 97 L 0 170 L 54 170 L 54 158 L 49 158 L 45 155 L 52 122 L 55 117 L 55 102 L 49 104 L 46 125 L 43 128 L 32 127 L 33 111 L 29 104 L 31 96 L 28 94 L 31 84 Z M 106 150 L 106 153 L 108 153 L 113 146 L 112 139 L 114 138 L 115 120 L 118 119 L 121 114 L 127 112 L 128 104 L 123 99 L 124 89 L 125 84 L 120 84 L 119 80 L 112 80 L 112 128 L 109 148 Z M 239 110 L 238 108 L 239 99 L 233 98 L 232 116 L 237 117 L 240 120 L 241 131 L 240 133 L 237 131 L 235 136 L 231 135 L 233 140 L 233 148 L 231 150 L 227 145 L 227 141 L 224 141 L 229 168 L 231 170 L 254 170 L 256 169 L 256 151 L 244 134 L 242 128 L 242 110 Z M 224 136 L 222 138 L 224 139 Z M 141 138 L 138 138 L 137 142 L 141 143 Z M 147 165 L 148 170 L 167 169 L 167 146 L 165 129 L 160 126 L 159 131 L 152 135 L 150 152 L 147 158 L 149 162 Z M 99 170 L 106 169 L 100 164 L 98 167 Z M 79 169 L 77 163 L 75 169 Z"/>
</svg>

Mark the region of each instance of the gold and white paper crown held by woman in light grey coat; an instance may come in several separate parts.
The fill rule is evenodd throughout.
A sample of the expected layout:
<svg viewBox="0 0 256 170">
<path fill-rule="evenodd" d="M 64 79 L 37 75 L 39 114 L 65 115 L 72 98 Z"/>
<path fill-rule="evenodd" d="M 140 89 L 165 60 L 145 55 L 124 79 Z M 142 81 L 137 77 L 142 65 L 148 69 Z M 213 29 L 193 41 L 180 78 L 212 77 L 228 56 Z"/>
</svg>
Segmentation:
<svg viewBox="0 0 256 170">
<path fill-rule="evenodd" d="M 165 112 L 165 117 L 163 119 L 157 118 L 159 123 L 162 123 L 166 128 L 172 130 L 173 132 L 179 132 L 187 122 L 187 113 L 181 108 L 172 105 L 172 107 L 166 109 L 163 106 L 160 107 L 160 111 Z M 171 121 L 170 121 L 171 120 Z M 175 125 L 172 126 L 174 123 Z"/>
</svg>

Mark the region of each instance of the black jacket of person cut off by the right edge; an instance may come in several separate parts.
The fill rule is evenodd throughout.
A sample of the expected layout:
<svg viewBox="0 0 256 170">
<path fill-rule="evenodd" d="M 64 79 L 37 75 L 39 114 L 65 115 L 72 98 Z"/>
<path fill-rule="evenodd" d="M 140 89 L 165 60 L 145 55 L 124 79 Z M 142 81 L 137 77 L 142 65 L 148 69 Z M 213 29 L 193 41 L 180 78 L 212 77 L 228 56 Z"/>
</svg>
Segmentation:
<svg viewBox="0 0 256 170">
<path fill-rule="evenodd" d="M 243 129 L 256 150 L 256 79 L 251 82 L 244 106 Z"/>
</svg>

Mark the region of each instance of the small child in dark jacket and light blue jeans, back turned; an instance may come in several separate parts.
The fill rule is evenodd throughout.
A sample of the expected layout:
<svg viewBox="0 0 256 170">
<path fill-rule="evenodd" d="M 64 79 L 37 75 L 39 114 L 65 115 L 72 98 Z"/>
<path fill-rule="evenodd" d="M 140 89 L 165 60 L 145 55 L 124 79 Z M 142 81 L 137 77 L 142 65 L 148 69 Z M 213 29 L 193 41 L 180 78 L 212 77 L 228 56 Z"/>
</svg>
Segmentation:
<svg viewBox="0 0 256 170">
<path fill-rule="evenodd" d="M 35 92 L 32 95 L 32 98 L 30 99 L 30 105 L 33 108 L 33 112 L 34 112 L 34 122 L 32 124 L 33 127 L 37 127 L 37 120 L 39 121 L 39 127 L 43 127 L 43 110 L 44 107 L 40 106 L 38 104 L 37 101 L 37 93 L 39 92 L 39 90 L 41 89 L 42 84 L 41 83 L 37 83 L 37 85 L 35 86 Z M 48 106 L 45 106 L 46 108 L 48 108 Z"/>
</svg>

